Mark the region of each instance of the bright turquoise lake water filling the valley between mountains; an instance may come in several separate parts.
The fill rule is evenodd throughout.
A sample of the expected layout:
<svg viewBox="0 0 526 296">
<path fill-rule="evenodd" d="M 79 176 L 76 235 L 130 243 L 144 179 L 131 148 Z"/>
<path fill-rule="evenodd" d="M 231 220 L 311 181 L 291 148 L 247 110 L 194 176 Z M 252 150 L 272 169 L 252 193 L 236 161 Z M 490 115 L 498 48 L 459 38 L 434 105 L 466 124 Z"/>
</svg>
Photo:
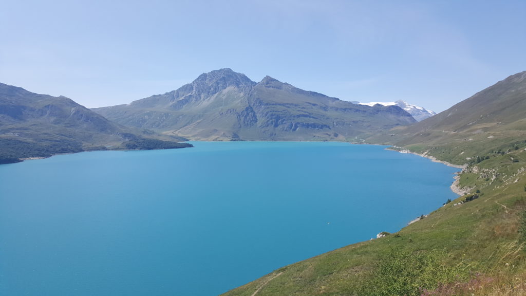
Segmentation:
<svg viewBox="0 0 526 296">
<path fill-rule="evenodd" d="M 217 295 L 457 197 L 385 146 L 192 143 L 0 165 L 0 295 Z"/>
</svg>

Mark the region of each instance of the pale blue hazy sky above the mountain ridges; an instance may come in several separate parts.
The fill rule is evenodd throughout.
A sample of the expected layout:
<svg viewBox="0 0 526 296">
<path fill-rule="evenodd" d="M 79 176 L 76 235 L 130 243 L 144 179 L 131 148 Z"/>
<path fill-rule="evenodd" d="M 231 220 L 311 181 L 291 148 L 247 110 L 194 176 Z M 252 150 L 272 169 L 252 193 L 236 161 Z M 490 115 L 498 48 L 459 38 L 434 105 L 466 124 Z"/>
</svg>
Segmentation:
<svg viewBox="0 0 526 296">
<path fill-rule="evenodd" d="M 526 71 L 526 1 L 0 0 L 0 82 L 86 107 L 231 68 L 441 112 Z"/>
</svg>

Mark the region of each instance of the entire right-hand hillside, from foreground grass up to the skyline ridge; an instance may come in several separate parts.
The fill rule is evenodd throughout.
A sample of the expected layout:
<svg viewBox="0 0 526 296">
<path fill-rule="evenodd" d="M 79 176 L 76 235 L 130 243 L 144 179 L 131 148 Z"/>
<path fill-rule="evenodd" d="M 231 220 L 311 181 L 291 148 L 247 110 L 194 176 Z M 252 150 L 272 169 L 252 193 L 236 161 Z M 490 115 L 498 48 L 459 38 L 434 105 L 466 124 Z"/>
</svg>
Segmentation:
<svg viewBox="0 0 526 296">
<path fill-rule="evenodd" d="M 457 200 L 395 234 L 291 264 L 225 295 L 526 295 L 525 75 L 409 127 L 406 139 L 389 135 L 400 149 L 468 162 Z M 460 156 L 447 152 L 459 145 Z"/>
</svg>

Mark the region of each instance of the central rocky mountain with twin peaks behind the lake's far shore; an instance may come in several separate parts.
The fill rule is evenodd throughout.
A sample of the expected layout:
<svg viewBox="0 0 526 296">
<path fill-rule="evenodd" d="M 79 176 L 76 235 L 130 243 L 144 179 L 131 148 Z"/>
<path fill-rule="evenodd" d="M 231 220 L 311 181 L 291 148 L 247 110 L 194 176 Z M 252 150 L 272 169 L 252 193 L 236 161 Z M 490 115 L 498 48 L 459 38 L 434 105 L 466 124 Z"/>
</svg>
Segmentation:
<svg viewBox="0 0 526 296">
<path fill-rule="evenodd" d="M 414 123 L 397 106 L 363 106 L 266 76 L 228 68 L 175 91 L 128 105 L 94 108 L 110 120 L 192 140 L 352 140 Z"/>
</svg>

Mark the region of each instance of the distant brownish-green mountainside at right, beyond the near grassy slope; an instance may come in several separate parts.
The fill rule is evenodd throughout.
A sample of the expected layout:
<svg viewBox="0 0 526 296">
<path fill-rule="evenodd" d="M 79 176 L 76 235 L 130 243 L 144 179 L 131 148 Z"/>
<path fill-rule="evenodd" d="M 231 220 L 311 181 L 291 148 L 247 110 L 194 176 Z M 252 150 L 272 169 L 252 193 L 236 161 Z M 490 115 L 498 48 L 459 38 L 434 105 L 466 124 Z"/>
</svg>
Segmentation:
<svg viewBox="0 0 526 296">
<path fill-rule="evenodd" d="M 526 139 L 524 114 L 526 71 L 509 76 L 429 119 L 392 131 L 397 135 L 391 142 L 421 153 L 442 154 L 442 158 L 462 164 L 489 146 L 504 147 Z"/>
</svg>

